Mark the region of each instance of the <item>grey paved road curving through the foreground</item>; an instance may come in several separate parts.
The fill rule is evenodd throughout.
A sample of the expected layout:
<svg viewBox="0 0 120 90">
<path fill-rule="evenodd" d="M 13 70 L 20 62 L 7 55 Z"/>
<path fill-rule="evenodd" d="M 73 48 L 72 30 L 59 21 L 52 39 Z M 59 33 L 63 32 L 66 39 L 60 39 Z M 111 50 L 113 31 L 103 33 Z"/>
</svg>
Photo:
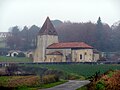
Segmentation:
<svg viewBox="0 0 120 90">
<path fill-rule="evenodd" d="M 78 80 L 69 80 L 64 84 L 48 88 L 48 89 L 40 89 L 40 90 L 76 90 L 79 87 L 82 87 L 86 84 L 90 83 L 88 80 L 78 81 Z"/>
</svg>

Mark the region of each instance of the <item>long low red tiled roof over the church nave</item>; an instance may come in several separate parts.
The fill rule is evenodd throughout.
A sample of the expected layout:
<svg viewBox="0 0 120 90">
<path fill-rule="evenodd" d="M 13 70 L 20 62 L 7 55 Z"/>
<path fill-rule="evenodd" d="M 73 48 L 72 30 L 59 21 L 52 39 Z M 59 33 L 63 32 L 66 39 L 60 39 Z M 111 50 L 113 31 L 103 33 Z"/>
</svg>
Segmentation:
<svg viewBox="0 0 120 90">
<path fill-rule="evenodd" d="M 53 43 L 47 47 L 48 49 L 62 49 L 62 48 L 87 48 L 92 49 L 92 46 L 84 42 L 66 42 L 66 43 Z"/>
</svg>

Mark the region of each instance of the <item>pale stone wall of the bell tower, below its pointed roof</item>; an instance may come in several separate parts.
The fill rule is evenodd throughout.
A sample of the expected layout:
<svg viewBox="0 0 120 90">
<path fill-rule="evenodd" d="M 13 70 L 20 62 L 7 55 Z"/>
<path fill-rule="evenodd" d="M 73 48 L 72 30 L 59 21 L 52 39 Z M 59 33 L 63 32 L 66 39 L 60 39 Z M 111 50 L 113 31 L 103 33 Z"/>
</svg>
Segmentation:
<svg viewBox="0 0 120 90">
<path fill-rule="evenodd" d="M 46 55 L 46 47 L 53 43 L 58 43 L 58 36 L 42 35 L 37 38 L 37 48 L 35 50 L 34 62 L 44 62 Z"/>
</svg>

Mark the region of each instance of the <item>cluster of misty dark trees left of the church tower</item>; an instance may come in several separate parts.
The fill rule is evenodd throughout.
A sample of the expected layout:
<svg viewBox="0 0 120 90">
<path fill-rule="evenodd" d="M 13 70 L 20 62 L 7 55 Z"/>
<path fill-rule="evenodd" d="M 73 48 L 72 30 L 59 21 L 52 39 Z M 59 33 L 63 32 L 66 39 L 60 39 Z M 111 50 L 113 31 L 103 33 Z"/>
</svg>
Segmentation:
<svg viewBox="0 0 120 90">
<path fill-rule="evenodd" d="M 11 35 L 7 37 L 7 47 L 11 50 L 29 50 L 36 48 L 36 36 L 40 28 L 36 25 L 28 28 L 24 26 L 22 30 L 18 26 L 11 28 Z"/>
</svg>

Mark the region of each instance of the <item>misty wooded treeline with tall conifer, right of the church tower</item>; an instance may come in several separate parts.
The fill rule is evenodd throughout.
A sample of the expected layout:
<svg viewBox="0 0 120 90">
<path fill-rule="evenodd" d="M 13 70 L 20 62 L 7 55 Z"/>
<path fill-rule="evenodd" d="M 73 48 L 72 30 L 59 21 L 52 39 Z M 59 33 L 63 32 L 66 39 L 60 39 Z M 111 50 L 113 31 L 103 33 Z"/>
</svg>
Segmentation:
<svg viewBox="0 0 120 90">
<path fill-rule="evenodd" d="M 120 51 L 120 22 L 111 27 L 102 23 L 64 22 L 56 27 L 61 42 L 86 42 L 104 52 Z"/>
</svg>

